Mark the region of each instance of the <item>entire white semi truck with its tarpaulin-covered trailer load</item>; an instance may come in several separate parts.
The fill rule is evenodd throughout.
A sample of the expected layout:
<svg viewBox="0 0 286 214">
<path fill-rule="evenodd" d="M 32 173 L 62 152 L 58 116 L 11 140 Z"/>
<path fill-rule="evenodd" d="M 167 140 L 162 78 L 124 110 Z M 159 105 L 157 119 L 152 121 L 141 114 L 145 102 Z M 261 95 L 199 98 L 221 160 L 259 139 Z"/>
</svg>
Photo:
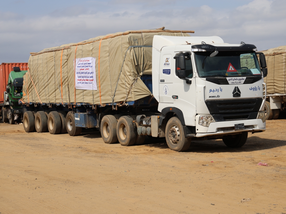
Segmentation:
<svg viewBox="0 0 286 214">
<path fill-rule="evenodd" d="M 248 132 L 265 131 L 267 69 L 255 45 L 162 31 L 121 32 L 32 53 L 30 69 L 53 79 L 35 83 L 25 74 L 25 131 L 76 136 L 96 127 L 108 144 L 140 145 L 148 135 L 166 138 L 179 152 L 191 140 L 223 139 L 237 148 Z M 50 64 L 41 68 L 45 58 Z"/>
</svg>

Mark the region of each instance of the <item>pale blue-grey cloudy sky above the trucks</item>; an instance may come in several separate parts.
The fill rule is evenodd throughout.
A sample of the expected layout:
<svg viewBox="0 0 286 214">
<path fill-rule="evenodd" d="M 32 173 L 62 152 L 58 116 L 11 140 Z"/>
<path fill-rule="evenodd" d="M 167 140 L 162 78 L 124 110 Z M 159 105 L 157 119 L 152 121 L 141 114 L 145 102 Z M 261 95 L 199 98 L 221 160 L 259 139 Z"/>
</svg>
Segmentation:
<svg viewBox="0 0 286 214">
<path fill-rule="evenodd" d="M 0 0 L 0 63 L 127 30 L 194 30 L 258 50 L 286 45 L 285 0 Z"/>
</svg>

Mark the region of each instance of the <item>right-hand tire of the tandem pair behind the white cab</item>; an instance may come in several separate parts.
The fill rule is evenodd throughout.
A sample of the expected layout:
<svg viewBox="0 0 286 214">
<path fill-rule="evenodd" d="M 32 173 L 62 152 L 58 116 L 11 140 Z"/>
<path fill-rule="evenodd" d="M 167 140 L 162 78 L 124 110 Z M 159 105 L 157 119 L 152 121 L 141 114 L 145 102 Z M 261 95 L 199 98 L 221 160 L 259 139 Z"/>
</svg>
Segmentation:
<svg viewBox="0 0 286 214">
<path fill-rule="evenodd" d="M 136 141 L 136 126 L 130 116 L 122 116 L 117 122 L 117 138 L 122 146 L 132 146 Z"/>
</svg>

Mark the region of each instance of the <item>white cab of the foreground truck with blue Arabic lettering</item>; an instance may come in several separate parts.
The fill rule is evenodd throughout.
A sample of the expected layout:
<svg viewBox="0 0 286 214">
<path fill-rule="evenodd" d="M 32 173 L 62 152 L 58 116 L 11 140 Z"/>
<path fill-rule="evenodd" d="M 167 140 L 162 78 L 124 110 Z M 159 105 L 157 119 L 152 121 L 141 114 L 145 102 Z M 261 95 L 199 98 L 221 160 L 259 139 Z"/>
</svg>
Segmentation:
<svg viewBox="0 0 286 214">
<path fill-rule="evenodd" d="M 217 36 L 155 35 L 152 86 L 162 113 L 159 125 L 175 114 L 186 138 L 222 138 L 229 145 L 246 139 L 247 132 L 265 131 L 266 74 L 255 51 L 254 45 L 227 44 Z"/>
</svg>

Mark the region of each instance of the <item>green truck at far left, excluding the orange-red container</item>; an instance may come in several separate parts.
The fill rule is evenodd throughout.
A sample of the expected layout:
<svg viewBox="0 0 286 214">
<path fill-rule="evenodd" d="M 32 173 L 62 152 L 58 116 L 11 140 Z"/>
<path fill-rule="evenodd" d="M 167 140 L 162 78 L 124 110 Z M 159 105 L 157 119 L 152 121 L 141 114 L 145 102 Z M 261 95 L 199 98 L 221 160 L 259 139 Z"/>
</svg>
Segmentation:
<svg viewBox="0 0 286 214">
<path fill-rule="evenodd" d="M 15 124 L 23 120 L 23 108 L 18 103 L 19 99 L 23 96 L 23 75 L 27 70 L 20 70 L 19 67 L 13 67 L 10 72 L 6 91 L 4 91 L 4 99 L 0 103 L 1 119 L 2 122 Z"/>
</svg>

